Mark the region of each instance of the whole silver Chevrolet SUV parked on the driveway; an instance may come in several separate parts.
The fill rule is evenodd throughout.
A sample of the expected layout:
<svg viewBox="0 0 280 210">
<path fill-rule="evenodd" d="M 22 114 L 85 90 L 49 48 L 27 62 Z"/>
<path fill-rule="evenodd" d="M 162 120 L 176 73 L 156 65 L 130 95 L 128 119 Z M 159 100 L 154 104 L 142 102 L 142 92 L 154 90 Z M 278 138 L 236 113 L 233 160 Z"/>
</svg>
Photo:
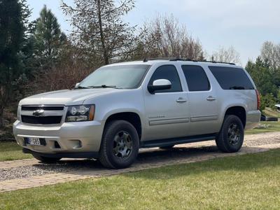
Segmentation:
<svg viewBox="0 0 280 210">
<path fill-rule="evenodd" d="M 22 99 L 13 133 L 42 162 L 97 158 L 117 169 L 139 148 L 216 139 L 235 153 L 244 129 L 258 125 L 259 107 L 253 80 L 235 64 L 145 59 L 103 66 L 73 90 Z"/>
</svg>

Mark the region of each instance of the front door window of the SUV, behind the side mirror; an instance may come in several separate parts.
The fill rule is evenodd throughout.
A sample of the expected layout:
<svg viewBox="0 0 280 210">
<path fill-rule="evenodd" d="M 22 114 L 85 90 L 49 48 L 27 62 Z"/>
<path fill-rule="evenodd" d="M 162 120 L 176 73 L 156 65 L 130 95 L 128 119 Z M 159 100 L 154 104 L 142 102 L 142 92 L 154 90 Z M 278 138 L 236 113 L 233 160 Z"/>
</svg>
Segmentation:
<svg viewBox="0 0 280 210">
<path fill-rule="evenodd" d="M 172 83 L 172 87 L 169 90 L 158 90 L 155 92 L 181 92 L 182 91 L 180 78 L 175 66 L 165 65 L 165 66 L 158 67 L 158 69 L 156 69 L 155 72 L 153 73 L 153 76 L 151 77 L 151 80 L 148 84 L 153 85 L 153 81 L 159 79 L 169 80 Z"/>
</svg>

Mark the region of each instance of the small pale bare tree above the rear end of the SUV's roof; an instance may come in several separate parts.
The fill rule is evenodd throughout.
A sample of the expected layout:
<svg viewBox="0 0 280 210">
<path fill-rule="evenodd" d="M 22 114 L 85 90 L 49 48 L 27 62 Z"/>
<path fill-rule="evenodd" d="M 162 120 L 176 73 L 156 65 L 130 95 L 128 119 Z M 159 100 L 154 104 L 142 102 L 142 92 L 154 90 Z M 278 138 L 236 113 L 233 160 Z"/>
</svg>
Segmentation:
<svg viewBox="0 0 280 210">
<path fill-rule="evenodd" d="M 219 48 L 211 55 L 211 60 L 216 62 L 241 63 L 239 52 L 232 46 L 230 46 L 230 48 Z"/>
</svg>

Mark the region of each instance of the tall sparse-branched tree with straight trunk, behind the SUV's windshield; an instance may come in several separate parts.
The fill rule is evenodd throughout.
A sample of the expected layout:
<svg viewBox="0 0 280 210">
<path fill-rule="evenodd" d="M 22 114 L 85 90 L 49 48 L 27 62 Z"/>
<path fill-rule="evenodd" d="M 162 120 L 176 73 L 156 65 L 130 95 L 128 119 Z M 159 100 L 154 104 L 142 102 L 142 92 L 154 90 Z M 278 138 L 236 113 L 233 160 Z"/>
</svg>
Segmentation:
<svg viewBox="0 0 280 210">
<path fill-rule="evenodd" d="M 84 52 L 99 57 L 102 64 L 120 59 L 134 50 L 134 27 L 122 17 L 134 7 L 134 0 L 74 0 L 74 6 L 62 2 L 73 31 L 71 39 Z"/>
</svg>

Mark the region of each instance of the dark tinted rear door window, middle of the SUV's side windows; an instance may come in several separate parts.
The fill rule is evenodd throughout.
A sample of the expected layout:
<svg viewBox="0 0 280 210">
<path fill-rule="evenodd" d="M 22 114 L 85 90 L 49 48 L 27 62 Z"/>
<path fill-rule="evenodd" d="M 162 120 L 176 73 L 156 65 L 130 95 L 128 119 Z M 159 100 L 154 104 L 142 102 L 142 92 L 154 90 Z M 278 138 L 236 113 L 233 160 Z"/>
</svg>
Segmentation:
<svg viewBox="0 0 280 210">
<path fill-rule="evenodd" d="M 189 91 L 207 91 L 210 90 L 210 83 L 202 66 L 183 65 Z"/>
</svg>

